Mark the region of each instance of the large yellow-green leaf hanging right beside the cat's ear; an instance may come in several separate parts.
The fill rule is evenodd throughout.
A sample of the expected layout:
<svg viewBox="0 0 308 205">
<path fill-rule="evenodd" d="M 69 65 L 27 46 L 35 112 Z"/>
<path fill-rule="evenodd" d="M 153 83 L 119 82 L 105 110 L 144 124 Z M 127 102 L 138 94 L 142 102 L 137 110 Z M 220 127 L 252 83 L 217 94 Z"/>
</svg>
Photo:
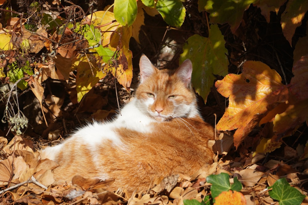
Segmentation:
<svg viewBox="0 0 308 205">
<path fill-rule="evenodd" d="M 228 50 L 217 25 L 211 25 L 208 38 L 195 34 L 189 37 L 183 46 L 180 63 L 186 59 L 192 61 L 192 83 L 205 102 L 216 79 L 213 74 L 228 74 L 229 61 L 225 53 L 228 53 Z"/>
</svg>

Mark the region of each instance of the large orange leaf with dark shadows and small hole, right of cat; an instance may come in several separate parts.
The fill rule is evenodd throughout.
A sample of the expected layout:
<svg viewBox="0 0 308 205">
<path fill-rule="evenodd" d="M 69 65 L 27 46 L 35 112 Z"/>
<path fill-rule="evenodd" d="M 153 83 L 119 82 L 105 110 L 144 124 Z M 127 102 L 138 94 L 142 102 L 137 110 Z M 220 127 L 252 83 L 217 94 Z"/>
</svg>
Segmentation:
<svg viewBox="0 0 308 205">
<path fill-rule="evenodd" d="M 288 89 L 279 74 L 260 61 L 246 61 L 243 73 L 217 81 L 217 91 L 229 97 L 229 107 L 217 124 L 218 130 L 233 130 L 237 148 L 266 112 L 285 102 Z"/>
</svg>

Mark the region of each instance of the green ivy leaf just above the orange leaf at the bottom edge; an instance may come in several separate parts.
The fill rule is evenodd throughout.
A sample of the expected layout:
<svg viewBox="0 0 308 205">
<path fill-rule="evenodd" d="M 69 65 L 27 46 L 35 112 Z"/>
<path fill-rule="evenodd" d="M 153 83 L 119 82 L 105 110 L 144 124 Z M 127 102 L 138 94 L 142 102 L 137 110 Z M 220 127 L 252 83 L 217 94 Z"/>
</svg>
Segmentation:
<svg viewBox="0 0 308 205">
<path fill-rule="evenodd" d="M 212 197 L 217 197 L 222 191 L 240 191 L 242 189 L 242 184 L 237 180 L 237 177 L 234 178 L 234 183 L 232 186 L 229 182 L 229 175 L 227 173 L 220 173 L 218 175 L 209 175 L 206 177 L 206 181 L 211 183 L 211 194 Z"/>
</svg>

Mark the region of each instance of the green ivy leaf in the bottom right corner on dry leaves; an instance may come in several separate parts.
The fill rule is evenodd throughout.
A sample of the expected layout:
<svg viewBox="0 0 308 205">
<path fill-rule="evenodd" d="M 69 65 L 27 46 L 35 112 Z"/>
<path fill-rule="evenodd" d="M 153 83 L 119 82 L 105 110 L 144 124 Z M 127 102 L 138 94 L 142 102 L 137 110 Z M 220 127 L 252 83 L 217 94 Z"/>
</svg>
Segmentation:
<svg viewBox="0 0 308 205">
<path fill-rule="evenodd" d="M 270 197 L 278 200 L 279 205 L 300 205 L 305 198 L 300 191 L 291 187 L 286 178 L 278 179 L 269 191 Z"/>
</svg>

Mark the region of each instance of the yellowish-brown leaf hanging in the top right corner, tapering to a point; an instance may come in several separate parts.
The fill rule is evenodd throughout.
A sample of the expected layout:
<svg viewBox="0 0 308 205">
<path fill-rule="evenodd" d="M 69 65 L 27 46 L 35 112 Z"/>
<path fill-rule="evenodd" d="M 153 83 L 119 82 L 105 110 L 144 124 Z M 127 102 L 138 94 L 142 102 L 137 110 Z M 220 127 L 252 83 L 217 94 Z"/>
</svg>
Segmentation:
<svg viewBox="0 0 308 205">
<path fill-rule="evenodd" d="M 282 33 L 292 46 L 292 37 L 295 29 L 301 25 L 302 19 L 308 10 L 308 4 L 304 1 L 289 0 L 286 10 L 281 14 Z"/>
</svg>

